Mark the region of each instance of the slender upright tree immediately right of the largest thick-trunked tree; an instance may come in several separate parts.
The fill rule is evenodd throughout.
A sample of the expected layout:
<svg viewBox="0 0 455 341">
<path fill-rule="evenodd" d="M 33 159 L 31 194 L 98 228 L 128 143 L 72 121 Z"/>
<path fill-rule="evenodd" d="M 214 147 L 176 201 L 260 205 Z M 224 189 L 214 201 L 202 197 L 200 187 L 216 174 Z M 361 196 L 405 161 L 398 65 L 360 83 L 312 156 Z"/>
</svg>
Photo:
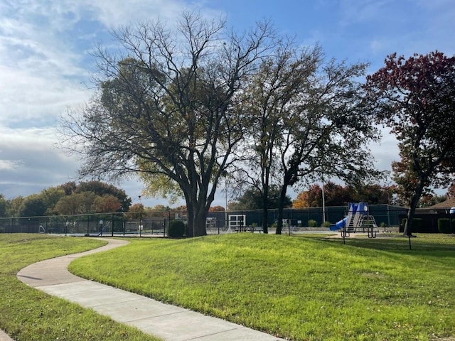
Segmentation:
<svg viewBox="0 0 455 341">
<path fill-rule="evenodd" d="M 289 117 L 298 110 L 296 106 L 311 82 L 320 55 L 319 47 L 297 48 L 291 41 L 282 41 L 275 53 L 262 60 L 242 94 L 239 110 L 248 115 L 248 138 L 242 144 L 247 166 L 239 166 L 237 181 L 252 185 L 255 195 L 260 195 L 264 233 L 268 232 L 267 212 L 274 201 L 270 197 L 272 185 L 275 184 L 273 194 L 276 194 L 277 179 L 282 175 L 277 168 L 277 158 L 281 157 L 279 151 L 285 144 L 286 131 L 289 131 L 285 122 L 290 122 Z M 278 176 L 274 177 L 274 174 Z M 278 207 L 279 202 L 274 202 L 274 208 Z"/>
</svg>

